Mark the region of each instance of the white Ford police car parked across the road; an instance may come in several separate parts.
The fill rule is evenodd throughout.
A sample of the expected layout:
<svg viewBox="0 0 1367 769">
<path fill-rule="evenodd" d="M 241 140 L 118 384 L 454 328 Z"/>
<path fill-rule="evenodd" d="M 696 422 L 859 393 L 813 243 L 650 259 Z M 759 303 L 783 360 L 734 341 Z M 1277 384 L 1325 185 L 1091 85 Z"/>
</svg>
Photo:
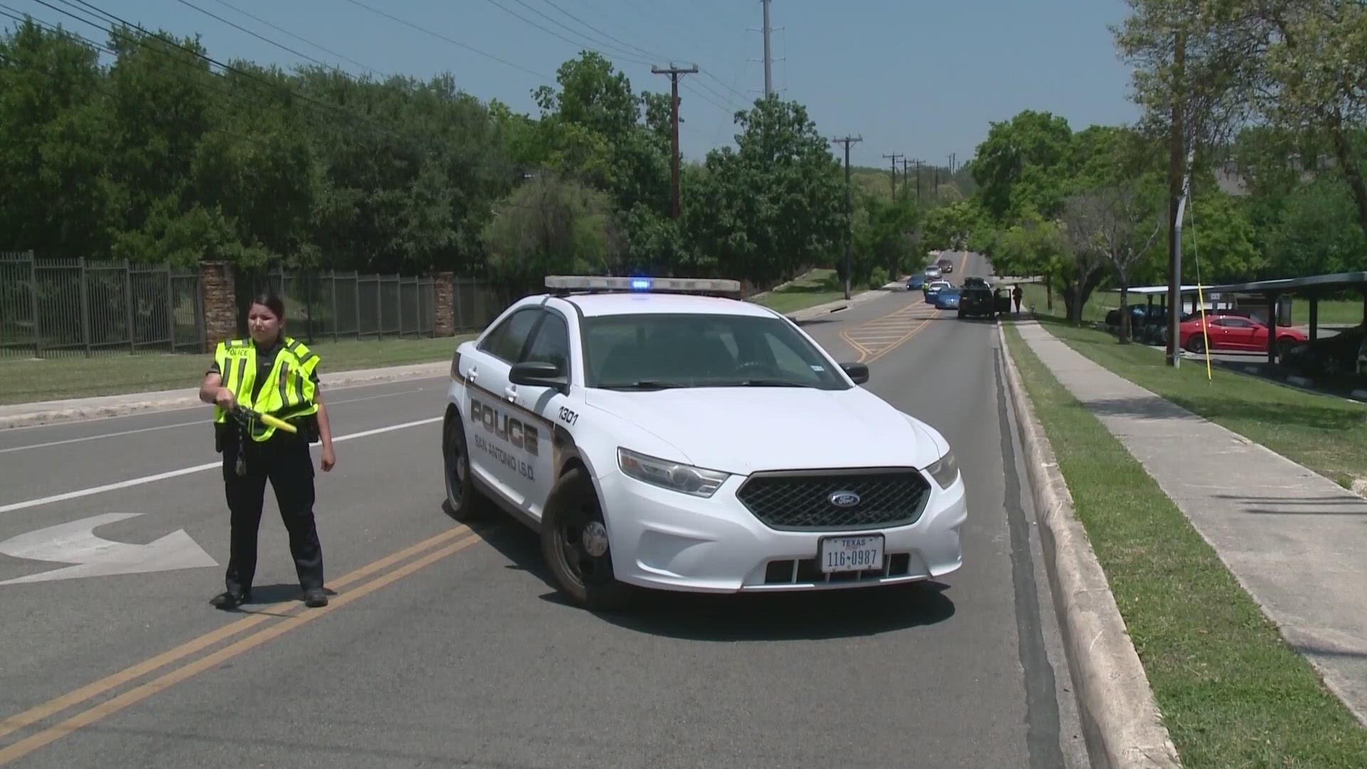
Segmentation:
<svg viewBox="0 0 1367 769">
<path fill-rule="evenodd" d="M 540 532 L 577 603 L 916 582 L 962 564 L 945 438 L 735 281 L 550 276 L 451 361 L 447 505 Z M 707 296 L 714 294 L 714 296 Z"/>
</svg>

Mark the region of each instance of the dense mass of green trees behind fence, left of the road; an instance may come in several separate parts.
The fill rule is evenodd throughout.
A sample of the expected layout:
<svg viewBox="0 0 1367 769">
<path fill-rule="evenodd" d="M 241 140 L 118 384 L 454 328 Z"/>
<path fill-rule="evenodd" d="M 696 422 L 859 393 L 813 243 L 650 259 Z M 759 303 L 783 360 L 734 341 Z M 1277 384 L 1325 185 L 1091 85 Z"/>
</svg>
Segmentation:
<svg viewBox="0 0 1367 769">
<path fill-rule="evenodd" d="M 105 66 L 60 30 L 0 34 L 0 250 L 774 285 L 845 234 L 841 164 L 791 101 L 757 100 L 735 115 L 737 149 L 682 164 L 675 219 L 670 97 L 592 52 L 533 92 L 532 116 L 451 75 L 219 71 L 197 38 L 127 27 L 101 45 Z M 915 237 L 913 208 L 884 208 L 858 241 L 863 276 L 895 270 Z"/>
</svg>

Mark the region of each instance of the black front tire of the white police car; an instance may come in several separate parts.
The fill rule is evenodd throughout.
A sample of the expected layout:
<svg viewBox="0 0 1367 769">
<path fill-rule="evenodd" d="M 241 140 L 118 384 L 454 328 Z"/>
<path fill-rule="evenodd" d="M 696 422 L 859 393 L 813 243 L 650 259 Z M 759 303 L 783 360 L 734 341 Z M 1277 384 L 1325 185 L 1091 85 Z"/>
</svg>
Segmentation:
<svg viewBox="0 0 1367 769">
<path fill-rule="evenodd" d="M 591 553 L 585 543 L 589 531 L 597 535 L 595 545 L 601 547 L 597 554 Z M 636 597 L 636 590 L 618 582 L 612 573 L 612 550 L 603 509 L 582 468 L 562 475 L 551 490 L 541 517 L 541 557 L 560 590 L 585 609 L 623 609 Z"/>
</svg>

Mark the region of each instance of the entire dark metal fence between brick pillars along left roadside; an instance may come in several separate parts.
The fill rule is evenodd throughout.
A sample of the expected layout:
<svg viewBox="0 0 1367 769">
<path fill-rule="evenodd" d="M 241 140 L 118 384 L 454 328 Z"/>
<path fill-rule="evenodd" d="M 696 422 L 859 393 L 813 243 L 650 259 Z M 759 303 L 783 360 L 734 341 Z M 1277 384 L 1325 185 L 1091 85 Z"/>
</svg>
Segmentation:
<svg viewBox="0 0 1367 769">
<path fill-rule="evenodd" d="M 361 272 L 234 271 L 238 334 L 252 297 L 286 302 L 290 333 L 309 343 L 436 335 L 436 279 Z M 481 331 L 534 287 L 454 278 L 457 334 Z M 92 357 L 205 350 L 198 271 L 127 261 L 0 253 L 0 357 Z"/>
</svg>

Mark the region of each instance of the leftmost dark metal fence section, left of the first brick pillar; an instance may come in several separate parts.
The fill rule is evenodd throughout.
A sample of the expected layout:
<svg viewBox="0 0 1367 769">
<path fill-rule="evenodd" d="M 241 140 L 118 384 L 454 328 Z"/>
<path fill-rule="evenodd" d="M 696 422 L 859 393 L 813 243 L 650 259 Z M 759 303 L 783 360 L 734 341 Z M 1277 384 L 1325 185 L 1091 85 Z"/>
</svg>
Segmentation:
<svg viewBox="0 0 1367 769">
<path fill-rule="evenodd" d="M 200 274 L 0 253 L 0 357 L 204 352 Z"/>
</svg>

